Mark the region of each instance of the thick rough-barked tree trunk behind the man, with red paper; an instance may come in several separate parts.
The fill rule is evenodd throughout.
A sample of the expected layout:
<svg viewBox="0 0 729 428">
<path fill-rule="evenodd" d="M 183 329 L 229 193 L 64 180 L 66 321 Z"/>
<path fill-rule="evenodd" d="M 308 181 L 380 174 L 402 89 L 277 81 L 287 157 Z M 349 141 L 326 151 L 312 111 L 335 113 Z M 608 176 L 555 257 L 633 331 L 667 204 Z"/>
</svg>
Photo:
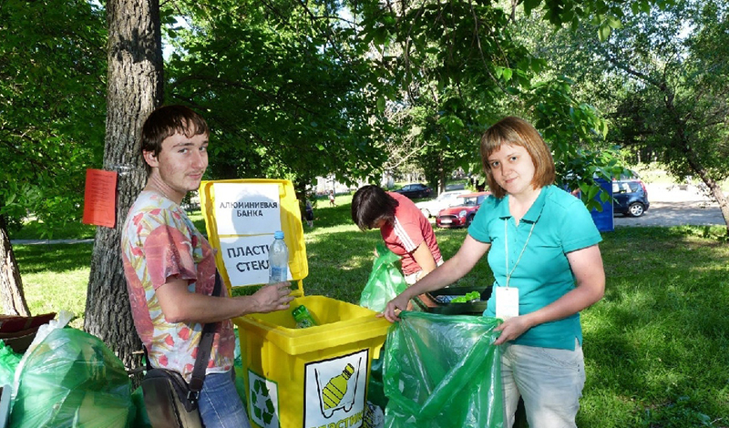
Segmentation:
<svg viewBox="0 0 729 428">
<path fill-rule="evenodd" d="M 147 174 L 139 134 L 162 99 L 159 0 L 109 0 L 107 134 L 104 168 L 118 172 L 117 221 L 98 227 L 88 279 L 84 329 L 114 350 L 128 368 L 139 366 L 141 343 L 129 308 L 120 231 Z"/>
</svg>

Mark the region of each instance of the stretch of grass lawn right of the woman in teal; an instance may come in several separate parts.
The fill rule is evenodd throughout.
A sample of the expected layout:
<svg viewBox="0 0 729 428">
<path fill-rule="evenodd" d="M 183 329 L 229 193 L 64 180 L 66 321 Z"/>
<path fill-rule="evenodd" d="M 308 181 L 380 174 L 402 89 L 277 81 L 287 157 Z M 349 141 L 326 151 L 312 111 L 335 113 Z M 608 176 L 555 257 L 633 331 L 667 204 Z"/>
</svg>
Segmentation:
<svg viewBox="0 0 729 428">
<path fill-rule="evenodd" d="M 578 424 L 726 426 L 729 249 L 696 228 L 603 236 L 605 297 L 582 312 L 588 382 Z"/>
</svg>

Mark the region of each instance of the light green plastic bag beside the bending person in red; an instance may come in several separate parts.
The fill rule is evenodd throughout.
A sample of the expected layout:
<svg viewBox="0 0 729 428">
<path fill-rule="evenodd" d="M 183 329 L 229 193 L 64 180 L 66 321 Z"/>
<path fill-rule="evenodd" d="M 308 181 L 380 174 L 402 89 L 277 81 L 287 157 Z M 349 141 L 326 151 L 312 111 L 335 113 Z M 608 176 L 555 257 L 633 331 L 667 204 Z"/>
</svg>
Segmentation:
<svg viewBox="0 0 729 428">
<path fill-rule="evenodd" d="M 407 288 L 403 273 L 397 269 L 400 257 L 388 250 L 384 242 L 377 243 L 377 257 L 372 265 L 370 278 L 362 290 L 359 305 L 376 312 L 385 311 L 388 301 Z"/>
</svg>

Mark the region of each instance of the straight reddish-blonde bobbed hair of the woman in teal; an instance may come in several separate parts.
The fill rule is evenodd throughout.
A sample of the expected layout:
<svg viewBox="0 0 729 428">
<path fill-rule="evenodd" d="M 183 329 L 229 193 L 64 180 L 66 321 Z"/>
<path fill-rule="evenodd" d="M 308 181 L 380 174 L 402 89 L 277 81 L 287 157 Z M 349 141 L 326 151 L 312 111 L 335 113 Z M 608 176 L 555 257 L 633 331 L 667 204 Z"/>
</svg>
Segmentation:
<svg viewBox="0 0 729 428">
<path fill-rule="evenodd" d="M 526 120 L 508 116 L 488 127 L 481 137 L 481 163 L 486 173 L 488 189 L 497 198 L 506 196 L 507 191 L 498 185 L 491 167 L 488 165 L 488 157 L 491 156 L 503 145 L 520 146 L 526 148 L 534 163 L 534 178 L 532 186 L 539 189 L 554 183 L 554 159 L 547 147 L 547 144 L 539 135 L 537 129 L 531 126 Z"/>
</svg>

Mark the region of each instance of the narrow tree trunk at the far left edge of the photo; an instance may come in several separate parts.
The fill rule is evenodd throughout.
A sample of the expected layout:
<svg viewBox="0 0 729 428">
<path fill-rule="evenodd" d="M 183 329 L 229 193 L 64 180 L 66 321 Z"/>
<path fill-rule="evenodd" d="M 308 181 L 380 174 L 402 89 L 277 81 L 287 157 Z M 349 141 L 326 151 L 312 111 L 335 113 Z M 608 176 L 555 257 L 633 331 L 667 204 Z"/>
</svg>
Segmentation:
<svg viewBox="0 0 729 428">
<path fill-rule="evenodd" d="M 0 216 L 0 291 L 3 292 L 3 313 L 30 315 L 4 216 Z"/>
</svg>

